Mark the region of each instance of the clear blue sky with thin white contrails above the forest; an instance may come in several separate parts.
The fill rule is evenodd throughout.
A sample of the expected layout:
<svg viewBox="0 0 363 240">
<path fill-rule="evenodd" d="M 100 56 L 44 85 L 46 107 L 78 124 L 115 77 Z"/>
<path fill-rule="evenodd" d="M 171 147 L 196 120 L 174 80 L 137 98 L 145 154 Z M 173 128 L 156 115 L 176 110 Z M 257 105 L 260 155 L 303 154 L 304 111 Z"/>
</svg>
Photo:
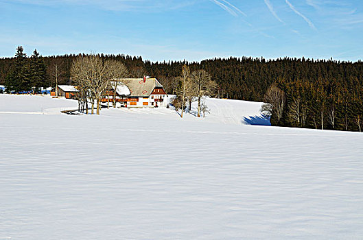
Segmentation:
<svg viewBox="0 0 363 240">
<path fill-rule="evenodd" d="M 0 0 L 0 56 L 363 59 L 362 0 Z"/>
</svg>

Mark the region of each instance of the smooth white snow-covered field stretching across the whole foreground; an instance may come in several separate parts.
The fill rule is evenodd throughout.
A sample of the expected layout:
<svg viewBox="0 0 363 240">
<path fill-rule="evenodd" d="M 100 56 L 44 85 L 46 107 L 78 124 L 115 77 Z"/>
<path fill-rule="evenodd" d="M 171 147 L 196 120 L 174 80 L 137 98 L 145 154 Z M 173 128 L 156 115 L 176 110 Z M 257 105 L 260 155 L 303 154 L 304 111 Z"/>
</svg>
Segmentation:
<svg viewBox="0 0 363 240">
<path fill-rule="evenodd" d="M 0 239 L 363 239 L 362 134 L 208 104 L 70 116 L 0 95 Z"/>
</svg>

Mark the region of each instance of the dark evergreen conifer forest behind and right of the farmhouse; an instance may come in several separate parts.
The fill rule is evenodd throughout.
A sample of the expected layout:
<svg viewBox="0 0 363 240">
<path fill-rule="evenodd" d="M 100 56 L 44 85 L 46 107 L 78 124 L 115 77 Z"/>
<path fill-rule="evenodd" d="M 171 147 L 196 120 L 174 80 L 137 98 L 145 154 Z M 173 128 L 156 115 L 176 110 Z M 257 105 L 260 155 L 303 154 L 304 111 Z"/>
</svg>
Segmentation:
<svg viewBox="0 0 363 240">
<path fill-rule="evenodd" d="M 71 66 L 77 56 L 32 56 L 0 59 L 0 84 L 10 86 L 19 77 L 29 84 L 13 91 L 73 84 Z M 98 55 L 102 60 L 122 62 L 129 77 L 156 77 L 169 94 L 178 93 L 183 66 L 204 70 L 217 84 L 213 97 L 264 101 L 261 109 L 272 125 L 329 130 L 361 131 L 363 127 L 363 62 L 305 58 L 213 58 L 201 62 L 150 62 L 141 57 Z M 24 71 L 19 74 L 21 66 Z M 16 70 L 17 69 L 17 70 Z M 15 74 L 16 73 L 16 74 Z M 24 81 L 23 81 L 24 82 Z M 21 85 L 21 84 L 20 84 Z M 19 84 L 18 84 L 19 86 Z"/>
</svg>

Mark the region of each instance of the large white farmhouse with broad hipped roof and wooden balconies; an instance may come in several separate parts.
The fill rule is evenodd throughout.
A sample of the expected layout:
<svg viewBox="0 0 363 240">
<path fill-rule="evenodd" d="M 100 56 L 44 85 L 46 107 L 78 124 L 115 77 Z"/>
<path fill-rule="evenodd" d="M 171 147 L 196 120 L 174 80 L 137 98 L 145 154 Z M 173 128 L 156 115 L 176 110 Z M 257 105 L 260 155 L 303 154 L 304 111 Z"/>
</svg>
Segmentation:
<svg viewBox="0 0 363 240">
<path fill-rule="evenodd" d="M 158 108 L 167 105 L 167 94 L 156 78 L 123 78 L 110 85 L 102 102 L 113 101 L 116 92 L 115 101 L 127 108 Z"/>
</svg>

